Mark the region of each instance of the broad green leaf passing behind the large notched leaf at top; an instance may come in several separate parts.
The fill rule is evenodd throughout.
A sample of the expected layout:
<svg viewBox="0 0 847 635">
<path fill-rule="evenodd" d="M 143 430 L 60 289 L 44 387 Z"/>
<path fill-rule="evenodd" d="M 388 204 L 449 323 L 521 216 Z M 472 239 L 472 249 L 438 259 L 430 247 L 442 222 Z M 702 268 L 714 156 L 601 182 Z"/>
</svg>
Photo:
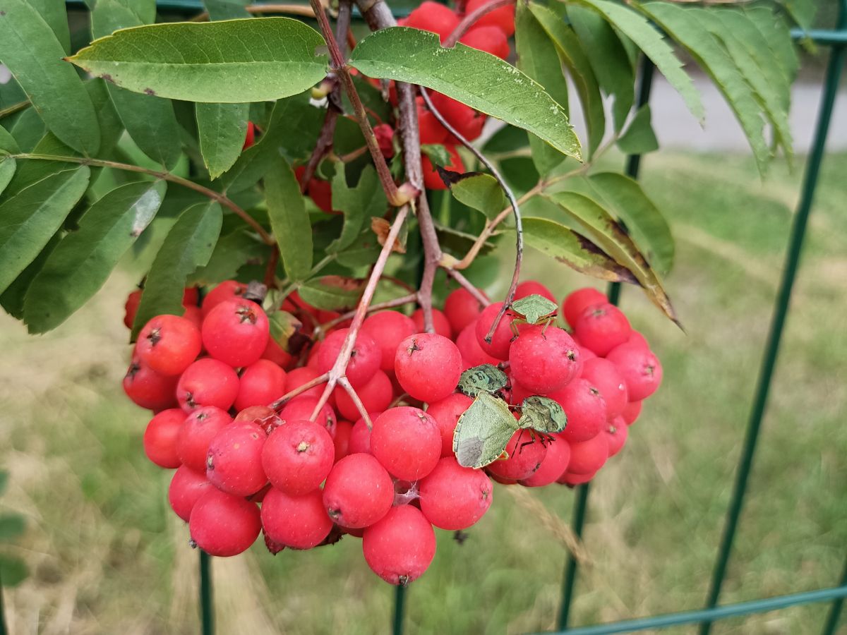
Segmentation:
<svg viewBox="0 0 847 635">
<path fill-rule="evenodd" d="M 567 81 L 562 72 L 562 61 L 559 59 L 556 45 L 523 3 L 518 3 L 515 18 L 515 51 L 518 53 L 518 69 L 544 86 L 567 113 Z M 540 174 L 547 174 L 565 158 L 561 152 L 557 152 L 535 135 L 530 135 L 529 144 L 532 146 L 535 167 Z"/>
</svg>

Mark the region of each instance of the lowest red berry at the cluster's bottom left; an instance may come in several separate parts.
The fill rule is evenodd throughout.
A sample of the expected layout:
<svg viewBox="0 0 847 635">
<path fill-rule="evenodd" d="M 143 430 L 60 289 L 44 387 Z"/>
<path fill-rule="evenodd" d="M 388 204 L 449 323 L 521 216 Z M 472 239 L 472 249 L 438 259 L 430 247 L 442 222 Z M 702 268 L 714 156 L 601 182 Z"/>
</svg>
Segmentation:
<svg viewBox="0 0 847 635">
<path fill-rule="evenodd" d="M 262 529 L 259 508 L 241 496 L 208 488 L 191 510 L 191 540 L 208 555 L 226 557 L 250 549 Z"/>
</svg>

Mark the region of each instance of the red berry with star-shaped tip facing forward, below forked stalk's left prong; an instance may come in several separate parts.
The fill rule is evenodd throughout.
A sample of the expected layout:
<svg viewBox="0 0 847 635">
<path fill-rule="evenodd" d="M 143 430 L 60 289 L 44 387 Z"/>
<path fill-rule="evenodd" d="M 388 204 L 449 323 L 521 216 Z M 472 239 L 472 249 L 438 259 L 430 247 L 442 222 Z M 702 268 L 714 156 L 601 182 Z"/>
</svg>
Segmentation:
<svg viewBox="0 0 847 635">
<path fill-rule="evenodd" d="M 318 489 L 334 459 L 332 437 L 310 421 L 287 421 L 275 428 L 262 450 L 262 467 L 268 480 L 291 496 Z"/>
</svg>

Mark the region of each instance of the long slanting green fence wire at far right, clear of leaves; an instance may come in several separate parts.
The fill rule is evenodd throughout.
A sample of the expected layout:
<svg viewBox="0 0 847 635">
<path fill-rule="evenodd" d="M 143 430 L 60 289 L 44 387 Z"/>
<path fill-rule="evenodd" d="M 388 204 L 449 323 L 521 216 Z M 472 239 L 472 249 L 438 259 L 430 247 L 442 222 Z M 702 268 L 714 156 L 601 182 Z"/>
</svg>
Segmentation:
<svg viewBox="0 0 847 635">
<path fill-rule="evenodd" d="M 838 28 L 847 27 L 847 0 L 839 3 Z M 800 202 L 797 213 L 789 235 L 789 246 L 785 256 L 783 275 L 779 284 L 779 290 L 771 320 L 771 327 L 767 335 L 765 353 L 762 356 L 759 379 L 756 383 L 756 393 L 753 406 L 750 410 L 750 420 L 747 424 L 744 446 L 741 450 L 738 472 L 735 478 L 732 499 L 730 500 L 727 519 L 723 528 L 721 544 L 717 551 L 717 559 L 712 572 L 709 594 L 706 598 L 706 608 L 717 606 L 717 600 L 721 595 L 721 587 L 726 577 L 729 556 L 732 552 L 735 533 L 738 528 L 739 516 L 744 506 L 747 483 L 750 478 L 753 456 L 756 453 L 756 443 L 759 439 L 761 421 L 767 406 L 768 391 L 771 387 L 773 371 L 776 367 L 779 353 L 779 343 L 783 336 L 785 319 L 789 312 L 791 291 L 794 288 L 794 279 L 800 264 L 800 253 L 803 248 L 805 229 L 808 224 L 811 205 L 814 201 L 818 177 L 820 176 L 823 152 L 827 142 L 829 124 L 832 119 L 833 105 L 838 95 L 839 80 L 844 66 L 844 45 L 836 45 L 830 53 L 827 66 L 827 75 L 822 91 L 821 106 L 817 117 L 817 128 L 812 143 L 811 154 L 806 165 L 803 185 L 800 192 Z M 708 635 L 711 631 L 711 621 L 703 622 L 700 626 L 700 635 Z"/>
</svg>

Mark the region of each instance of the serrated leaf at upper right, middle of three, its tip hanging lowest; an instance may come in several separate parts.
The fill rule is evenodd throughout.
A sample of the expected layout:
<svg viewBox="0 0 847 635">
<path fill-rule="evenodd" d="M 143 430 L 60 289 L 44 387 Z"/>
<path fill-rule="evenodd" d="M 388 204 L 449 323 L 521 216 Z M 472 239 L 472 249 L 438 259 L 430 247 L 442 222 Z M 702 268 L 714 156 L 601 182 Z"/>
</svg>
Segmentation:
<svg viewBox="0 0 847 635">
<path fill-rule="evenodd" d="M 714 80 L 739 120 L 750 142 L 756 165 L 764 174 L 771 157 L 765 141 L 765 122 L 756 103 L 756 95 L 736 68 L 726 48 L 711 35 L 697 12 L 658 2 L 645 3 L 641 8 L 678 41 Z"/>
</svg>

